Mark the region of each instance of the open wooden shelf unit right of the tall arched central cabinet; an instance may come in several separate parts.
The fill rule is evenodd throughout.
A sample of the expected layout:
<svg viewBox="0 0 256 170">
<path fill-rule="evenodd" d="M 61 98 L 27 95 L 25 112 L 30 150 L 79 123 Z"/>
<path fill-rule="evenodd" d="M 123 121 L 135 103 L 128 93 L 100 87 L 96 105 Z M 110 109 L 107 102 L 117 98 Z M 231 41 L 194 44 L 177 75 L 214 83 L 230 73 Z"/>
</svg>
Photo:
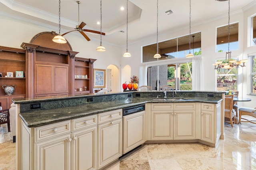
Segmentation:
<svg viewBox="0 0 256 170">
<path fill-rule="evenodd" d="M 75 57 L 75 94 L 93 93 L 93 63 L 96 59 Z M 82 89 L 82 91 L 80 91 Z"/>
</svg>

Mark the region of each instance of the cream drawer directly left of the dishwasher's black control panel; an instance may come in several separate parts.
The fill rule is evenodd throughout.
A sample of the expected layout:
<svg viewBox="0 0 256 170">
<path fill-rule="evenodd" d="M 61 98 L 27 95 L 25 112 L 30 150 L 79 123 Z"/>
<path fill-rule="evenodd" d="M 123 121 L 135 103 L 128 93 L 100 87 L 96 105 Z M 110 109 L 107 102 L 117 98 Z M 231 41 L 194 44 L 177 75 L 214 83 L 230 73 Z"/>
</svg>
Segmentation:
<svg viewBox="0 0 256 170">
<path fill-rule="evenodd" d="M 98 124 L 122 118 L 122 109 L 99 113 Z"/>
</svg>

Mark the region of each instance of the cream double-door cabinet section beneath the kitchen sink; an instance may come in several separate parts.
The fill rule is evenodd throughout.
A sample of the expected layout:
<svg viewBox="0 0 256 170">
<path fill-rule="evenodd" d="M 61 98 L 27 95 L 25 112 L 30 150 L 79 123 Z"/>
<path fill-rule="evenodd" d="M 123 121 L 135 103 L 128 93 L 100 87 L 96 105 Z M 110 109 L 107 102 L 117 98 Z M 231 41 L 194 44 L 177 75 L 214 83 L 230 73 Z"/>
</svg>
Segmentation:
<svg viewBox="0 0 256 170">
<path fill-rule="evenodd" d="M 194 103 L 152 103 L 151 140 L 195 139 Z"/>
</svg>

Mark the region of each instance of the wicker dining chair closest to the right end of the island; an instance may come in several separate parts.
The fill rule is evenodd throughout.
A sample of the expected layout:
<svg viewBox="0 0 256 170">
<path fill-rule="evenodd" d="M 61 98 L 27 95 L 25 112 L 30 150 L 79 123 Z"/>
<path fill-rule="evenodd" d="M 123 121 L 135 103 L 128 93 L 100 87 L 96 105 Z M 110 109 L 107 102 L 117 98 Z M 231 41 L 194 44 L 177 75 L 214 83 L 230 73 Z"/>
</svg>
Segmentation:
<svg viewBox="0 0 256 170">
<path fill-rule="evenodd" d="M 225 95 L 225 103 L 224 103 L 224 117 L 229 119 L 229 121 L 225 121 L 226 123 L 230 123 L 231 127 L 233 127 L 235 113 L 232 111 L 233 109 L 233 98 L 234 95 Z"/>
</svg>

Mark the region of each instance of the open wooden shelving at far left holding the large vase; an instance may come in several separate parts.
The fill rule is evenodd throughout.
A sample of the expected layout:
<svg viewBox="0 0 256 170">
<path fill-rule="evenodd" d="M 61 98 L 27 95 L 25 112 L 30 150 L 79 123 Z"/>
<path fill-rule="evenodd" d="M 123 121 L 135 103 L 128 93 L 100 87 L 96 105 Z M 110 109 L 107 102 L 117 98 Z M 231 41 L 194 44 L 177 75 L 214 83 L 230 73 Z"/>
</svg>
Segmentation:
<svg viewBox="0 0 256 170">
<path fill-rule="evenodd" d="M 26 50 L 0 46 L 0 102 L 3 109 L 9 109 L 12 98 L 26 97 Z M 24 77 L 16 77 L 16 71 L 23 71 Z M 5 77 L 12 72 L 13 77 Z M 2 85 L 16 85 L 12 95 L 6 95 Z"/>
</svg>

